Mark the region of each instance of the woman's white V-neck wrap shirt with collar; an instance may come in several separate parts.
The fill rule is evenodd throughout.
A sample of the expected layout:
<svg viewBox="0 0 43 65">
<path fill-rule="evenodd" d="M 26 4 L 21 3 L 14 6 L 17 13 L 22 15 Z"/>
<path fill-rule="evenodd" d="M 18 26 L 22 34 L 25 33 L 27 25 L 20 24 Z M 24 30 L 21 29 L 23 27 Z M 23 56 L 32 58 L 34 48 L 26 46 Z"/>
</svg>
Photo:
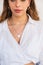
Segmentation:
<svg viewBox="0 0 43 65">
<path fill-rule="evenodd" d="M 41 37 L 41 26 L 30 18 L 19 45 L 9 31 L 7 20 L 5 20 L 0 24 L 0 64 L 24 65 L 39 62 L 43 41 Z"/>
</svg>

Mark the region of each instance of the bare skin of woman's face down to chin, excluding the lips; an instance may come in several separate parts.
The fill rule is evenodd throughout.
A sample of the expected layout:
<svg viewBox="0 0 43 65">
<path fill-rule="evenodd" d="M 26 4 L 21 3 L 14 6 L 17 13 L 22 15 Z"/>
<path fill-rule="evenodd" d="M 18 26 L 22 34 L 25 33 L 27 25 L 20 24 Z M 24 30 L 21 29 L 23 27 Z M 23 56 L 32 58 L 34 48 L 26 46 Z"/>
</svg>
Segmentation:
<svg viewBox="0 0 43 65">
<path fill-rule="evenodd" d="M 12 5 L 12 6 L 11 6 Z M 30 5 L 30 0 L 9 0 L 9 7 L 13 16 L 23 16 L 26 14 L 27 7 Z M 16 13 L 15 9 L 22 10 L 20 13 Z"/>
</svg>

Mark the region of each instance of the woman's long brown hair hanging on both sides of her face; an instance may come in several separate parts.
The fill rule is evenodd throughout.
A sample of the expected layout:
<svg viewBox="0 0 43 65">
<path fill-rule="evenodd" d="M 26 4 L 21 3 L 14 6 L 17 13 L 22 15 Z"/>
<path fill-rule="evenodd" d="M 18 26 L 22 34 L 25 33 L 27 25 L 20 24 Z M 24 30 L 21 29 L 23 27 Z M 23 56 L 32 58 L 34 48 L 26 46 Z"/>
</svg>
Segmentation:
<svg viewBox="0 0 43 65">
<path fill-rule="evenodd" d="M 30 7 L 27 8 L 27 14 L 31 16 L 34 20 L 39 20 L 39 16 L 36 10 L 35 2 L 34 0 L 31 0 Z M 3 3 L 3 12 L 0 16 L 0 22 L 4 21 L 5 19 L 12 16 L 12 12 L 9 8 L 8 0 L 4 0 Z"/>
</svg>

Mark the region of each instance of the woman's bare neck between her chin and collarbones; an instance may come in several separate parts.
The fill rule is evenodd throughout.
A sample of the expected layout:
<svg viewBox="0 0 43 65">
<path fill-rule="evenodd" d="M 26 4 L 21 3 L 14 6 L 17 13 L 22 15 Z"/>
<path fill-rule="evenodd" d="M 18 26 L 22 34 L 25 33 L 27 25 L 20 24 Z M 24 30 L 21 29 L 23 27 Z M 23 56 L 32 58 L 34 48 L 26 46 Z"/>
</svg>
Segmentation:
<svg viewBox="0 0 43 65">
<path fill-rule="evenodd" d="M 16 24 L 25 24 L 27 22 L 28 16 L 27 14 L 22 15 L 21 17 L 12 16 L 10 18 L 10 23 L 13 25 Z"/>
</svg>

